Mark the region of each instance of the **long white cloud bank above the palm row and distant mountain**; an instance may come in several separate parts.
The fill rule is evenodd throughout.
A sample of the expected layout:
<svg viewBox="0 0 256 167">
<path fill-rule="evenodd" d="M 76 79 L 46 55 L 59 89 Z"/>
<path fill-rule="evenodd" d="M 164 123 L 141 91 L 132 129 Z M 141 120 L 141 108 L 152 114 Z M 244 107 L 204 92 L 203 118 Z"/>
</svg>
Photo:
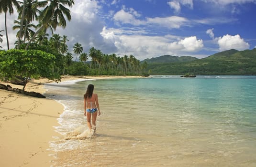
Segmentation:
<svg viewBox="0 0 256 167">
<path fill-rule="evenodd" d="M 178 36 L 146 36 L 146 35 L 125 35 L 118 29 L 104 28 L 101 35 L 104 39 L 113 42 L 119 55 L 134 55 L 140 60 L 154 57 L 156 55 L 188 55 L 191 52 L 203 48 L 203 41 L 191 36 L 180 38 Z M 179 39 L 179 40 L 178 40 Z"/>
</svg>

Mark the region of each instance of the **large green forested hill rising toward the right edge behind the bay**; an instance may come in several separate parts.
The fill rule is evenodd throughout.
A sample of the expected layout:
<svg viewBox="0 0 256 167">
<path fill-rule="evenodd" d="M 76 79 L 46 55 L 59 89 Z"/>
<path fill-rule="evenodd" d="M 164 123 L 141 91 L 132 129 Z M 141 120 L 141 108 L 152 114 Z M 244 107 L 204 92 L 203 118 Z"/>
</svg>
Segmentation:
<svg viewBox="0 0 256 167">
<path fill-rule="evenodd" d="M 256 49 L 219 52 L 190 62 L 148 63 L 150 74 L 256 75 Z"/>
</svg>

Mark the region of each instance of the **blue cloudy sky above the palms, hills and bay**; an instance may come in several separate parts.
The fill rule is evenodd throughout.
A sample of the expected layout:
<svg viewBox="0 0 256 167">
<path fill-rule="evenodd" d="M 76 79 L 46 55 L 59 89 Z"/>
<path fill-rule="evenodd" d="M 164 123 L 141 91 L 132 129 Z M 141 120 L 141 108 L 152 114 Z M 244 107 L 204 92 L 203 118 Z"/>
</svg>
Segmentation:
<svg viewBox="0 0 256 167">
<path fill-rule="evenodd" d="M 214 53 L 256 48 L 256 0 L 75 0 L 71 21 L 54 33 L 88 53 L 134 55 L 138 60 L 161 55 L 208 57 Z M 8 15 L 10 47 L 17 12 Z M 0 30 L 4 30 L 4 14 Z M 7 49 L 5 32 L 2 49 Z"/>
</svg>

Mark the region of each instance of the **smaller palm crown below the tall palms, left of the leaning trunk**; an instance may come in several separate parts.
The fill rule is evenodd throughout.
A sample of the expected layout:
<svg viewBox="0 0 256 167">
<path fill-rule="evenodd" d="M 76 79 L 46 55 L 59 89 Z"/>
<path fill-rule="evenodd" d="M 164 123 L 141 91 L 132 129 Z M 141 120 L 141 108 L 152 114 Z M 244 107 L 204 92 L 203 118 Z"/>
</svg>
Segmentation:
<svg viewBox="0 0 256 167">
<path fill-rule="evenodd" d="M 31 28 L 35 28 L 36 26 L 31 23 L 31 24 L 27 24 L 27 21 L 25 21 L 25 24 L 26 24 L 26 28 L 25 28 L 25 25 L 23 25 L 23 28 L 21 28 L 21 24 L 20 24 L 20 21 L 17 21 L 17 20 L 14 20 L 14 23 L 16 23 L 17 25 L 14 25 L 12 27 L 13 30 L 16 30 L 16 29 L 19 29 L 19 31 L 17 32 L 16 34 L 16 37 L 19 38 L 20 36 L 20 31 L 22 31 L 21 33 L 21 37 L 24 36 L 24 40 L 23 42 L 25 42 L 26 40 L 29 40 L 30 39 L 30 34 L 34 34 L 34 31 L 31 29 Z M 33 35 L 32 35 L 33 36 Z M 19 45 L 19 43 L 18 43 Z M 18 48 L 18 47 L 17 47 Z"/>
</svg>

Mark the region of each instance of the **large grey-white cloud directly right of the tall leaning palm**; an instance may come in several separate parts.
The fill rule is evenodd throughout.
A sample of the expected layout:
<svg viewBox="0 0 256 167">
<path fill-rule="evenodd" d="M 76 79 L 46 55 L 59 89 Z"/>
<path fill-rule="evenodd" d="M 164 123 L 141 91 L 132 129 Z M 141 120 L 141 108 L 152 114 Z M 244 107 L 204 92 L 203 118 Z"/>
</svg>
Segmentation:
<svg viewBox="0 0 256 167">
<path fill-rule="evenodd" d="M 116 47 L 111 38 L 103 38 L 100 34 L 104 28 L 104 21 L 97 15 L 101 6 L 95 0 L 77 0 L 71 10 L 72 19 L 65 29 L 57 28 L 55 33 L 67 35 L 69 52 L 73 53 L 76 42 L 83 46 L 83 52 L 95 47 L 101 52 L 115 52 Z M 73 56 L 75 57 L 75 56 Z"/>
</svg>

